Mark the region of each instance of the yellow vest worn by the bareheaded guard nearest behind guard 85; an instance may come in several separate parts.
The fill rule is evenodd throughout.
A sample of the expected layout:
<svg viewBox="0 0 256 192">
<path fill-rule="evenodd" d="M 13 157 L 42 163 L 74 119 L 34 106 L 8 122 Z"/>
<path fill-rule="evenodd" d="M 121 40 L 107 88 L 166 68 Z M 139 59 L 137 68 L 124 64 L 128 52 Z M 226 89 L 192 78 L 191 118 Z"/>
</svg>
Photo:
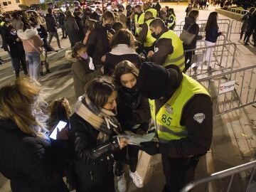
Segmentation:
<svg viewBox="0 0 256 192">
<path fill-rule="evenodd" d="M 182 71 L 185 68 L 185 58 L 181 39 L 176 35 L 176 33 L 174 33 L 174 31 L 171 30 L 163 33 L 159 39 L 161 38 L 171 39 L 172 46 L 174 47 L 174 53 L 167 55 L 163 66 L 177 65 Z"/>
</svg>

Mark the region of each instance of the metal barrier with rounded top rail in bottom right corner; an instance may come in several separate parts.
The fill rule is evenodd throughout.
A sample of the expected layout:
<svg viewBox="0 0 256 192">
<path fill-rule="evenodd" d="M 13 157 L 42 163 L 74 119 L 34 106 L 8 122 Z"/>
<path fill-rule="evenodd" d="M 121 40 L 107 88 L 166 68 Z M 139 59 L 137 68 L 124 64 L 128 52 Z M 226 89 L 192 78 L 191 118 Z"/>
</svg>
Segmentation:
<svg viewBox="0 0 256 192">
<path fill-rule="evenodd" d="M 196 181 L 192 181 L 191 183 L 188 183 L 186 186 L 184 186 L 181 189 L 180 192 L 191 191 L 191 189 L 196 188 L 196 186 L 199 186 L 199 185 L 202 185 L 202 184 L 205 184 L 205 190 L 204 191 L 208 191 L 208 185 L 209 185 L 210 182 L 218 181 L 220 179 L 227 178 L 228 176 L 230 176 L 230 181 L 228 183 L 228 188 L 226 190 L 228 192 L 228 191 L 230 191 L 230 188 L 232 186 L 235 174 L 239 174 L 243 171 L 252 170 L 251 173 L 250 173 L 249 181 L 247 182 L 247 186 L 244 190 L 246 192 L 249 192 L 250 183 L 252 183 L 252 177 L 255 174 L 255 169 L 256 169 L 256 161 L 252 161 L 252 162 L 247 163 L 247 164 L 242 164 L 240 166 L 235 166 L 233 168 L 226 169 L 224 171 L 220 171 L 220 172 L 217 172 L 215 174 L 211 174 L 210 176 L 208 176 L 206 178 L 201 178 L 201 179 L 198 179 Z M 224 188 L 221 189 L 221 191 L 224 191 L 224 190 L 225 190 Z"/>
</svg>

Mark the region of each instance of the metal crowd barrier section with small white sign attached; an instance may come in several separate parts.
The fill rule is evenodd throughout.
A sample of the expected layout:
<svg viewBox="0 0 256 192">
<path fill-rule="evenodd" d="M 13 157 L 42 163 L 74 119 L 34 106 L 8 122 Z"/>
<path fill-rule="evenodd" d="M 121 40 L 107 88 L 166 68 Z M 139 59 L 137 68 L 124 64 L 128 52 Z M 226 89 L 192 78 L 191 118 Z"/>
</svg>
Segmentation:
<svg viewBox="0 0 256 192">
<path fill-rule="evenodd" d="M 256 65 L 199 78 L 213 98 L 213 117 L 256 103 Z"/>
</svg>

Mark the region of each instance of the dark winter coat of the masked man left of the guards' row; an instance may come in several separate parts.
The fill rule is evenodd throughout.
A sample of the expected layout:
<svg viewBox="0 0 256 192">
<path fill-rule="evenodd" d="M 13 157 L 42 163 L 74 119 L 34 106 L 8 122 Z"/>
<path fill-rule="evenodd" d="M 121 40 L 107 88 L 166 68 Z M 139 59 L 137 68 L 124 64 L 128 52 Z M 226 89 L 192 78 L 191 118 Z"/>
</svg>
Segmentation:
<svg viewBox="0 0 256 192">
<path fill-rule="evenodd" d="M 110 41 L 107 38 L 107 29 L 102 23 L 95 23 L 95 28 L 89 34 L 87 39 L 87 53 L 92 58 L 95 65 L 104 65 L 102 55 L 110 52 Z"/>
</svg>

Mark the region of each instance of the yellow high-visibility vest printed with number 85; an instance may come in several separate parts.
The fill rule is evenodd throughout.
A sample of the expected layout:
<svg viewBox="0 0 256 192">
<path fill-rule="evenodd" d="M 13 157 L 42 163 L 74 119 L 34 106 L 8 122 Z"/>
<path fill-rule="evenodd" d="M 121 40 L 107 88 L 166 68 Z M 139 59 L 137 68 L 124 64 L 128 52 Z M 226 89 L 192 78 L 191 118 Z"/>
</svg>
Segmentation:
<svg viewBox="0 0 256 192">
<path fill-rule="evenodd" d="M 181 125 L 181 114 L 183 107 L 196 94 L 210 96 L 203 85 L 183 74 L 181 85 L 160 109 L 156 107 L 155 100 L 149 100 L 151 117 L 160 142 L 169 142 L 187 137 L 187 129 Z M 159 109 L 157 114 L 155 114 L 156 109 Z"/>
</svg>

